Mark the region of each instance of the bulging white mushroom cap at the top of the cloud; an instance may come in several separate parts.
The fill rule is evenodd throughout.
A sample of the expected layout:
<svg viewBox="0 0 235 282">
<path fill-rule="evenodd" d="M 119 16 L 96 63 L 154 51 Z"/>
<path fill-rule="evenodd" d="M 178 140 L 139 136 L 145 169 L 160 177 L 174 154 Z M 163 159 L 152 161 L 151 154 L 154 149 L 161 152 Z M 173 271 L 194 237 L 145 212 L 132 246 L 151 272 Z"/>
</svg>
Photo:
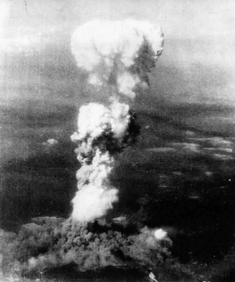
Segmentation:
<svg viewBox="0 0 235 282">
<path fill-rule="evenodd" d="M 75 30 L 71 48 L 78 67 L 89 72 L 89 83 L 112 85 L 112 91 L 133 99 L 136 84 L 146 85 L 145 72 L 161 55 L 163 42 L 160 27 L 148 21 L 94 20 Z"/>
</svg>

